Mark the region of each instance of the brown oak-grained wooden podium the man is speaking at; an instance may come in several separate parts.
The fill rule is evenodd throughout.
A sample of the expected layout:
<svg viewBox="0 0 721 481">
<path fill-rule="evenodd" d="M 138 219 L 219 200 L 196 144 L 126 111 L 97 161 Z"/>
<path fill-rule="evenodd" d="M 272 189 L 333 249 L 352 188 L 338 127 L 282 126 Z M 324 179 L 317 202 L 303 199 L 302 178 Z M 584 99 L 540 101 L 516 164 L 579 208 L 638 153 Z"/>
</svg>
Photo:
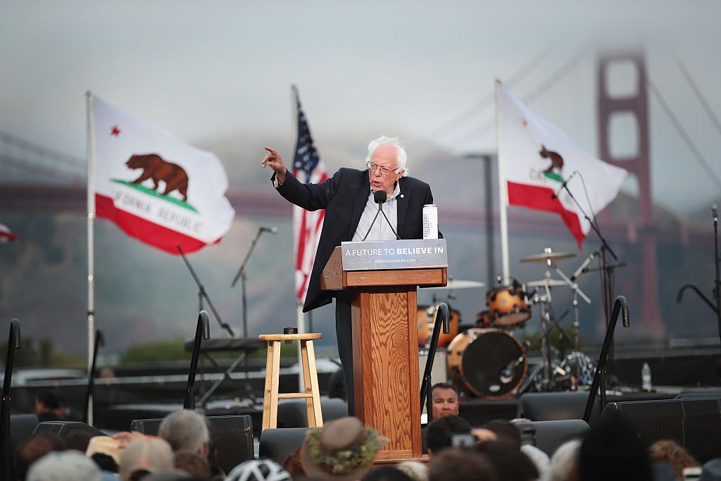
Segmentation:
<svg viewBox="0 0 721 481">
<path fill-rule="evenodd" d="M 336 247 L 323 290 L 350 289 L 355 416 L 390 442 L 376 461 L 421 457 L 417 286 L 445 286 L 446 268 L 342 269 Z"/>
</svg>

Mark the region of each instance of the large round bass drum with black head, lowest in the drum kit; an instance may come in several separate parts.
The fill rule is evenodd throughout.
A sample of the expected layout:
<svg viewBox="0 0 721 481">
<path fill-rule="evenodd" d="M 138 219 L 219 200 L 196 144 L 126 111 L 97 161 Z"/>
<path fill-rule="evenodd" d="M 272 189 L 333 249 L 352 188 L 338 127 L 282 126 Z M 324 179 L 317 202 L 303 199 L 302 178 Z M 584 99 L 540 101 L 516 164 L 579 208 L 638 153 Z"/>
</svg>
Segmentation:
<svg viewBox="0 0 721 481">
<path fill-rule="evenodd" d="M 501 329 L 469 329 L 451 341 L 447 356 L 456 387 L 486 399 L 510 397 L 528 370 L 521 343 Z"/>
</svg>

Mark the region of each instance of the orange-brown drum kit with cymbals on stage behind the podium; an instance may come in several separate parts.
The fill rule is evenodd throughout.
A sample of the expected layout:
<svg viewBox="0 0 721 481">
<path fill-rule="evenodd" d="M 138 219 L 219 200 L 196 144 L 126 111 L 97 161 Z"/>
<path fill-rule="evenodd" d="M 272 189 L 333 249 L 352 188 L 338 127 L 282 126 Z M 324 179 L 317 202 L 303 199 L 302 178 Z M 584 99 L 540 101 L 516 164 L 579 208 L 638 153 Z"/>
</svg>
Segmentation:
<svg viewBox="0 0 721 481">
<path fill-rule="evenodd" d="M 463 329 L 461 316 L 455 309 L 450 309 L 450 332 L 438 339 L 438 347 L 447 346 L 448 377 L 462 391 L 486 399 L 503 399 L 514 394 L 531 391 L 554 391 L 579 389 L 588 387 L 593 381 L 596 369 L 593 361 L 578 350 L 578 298 L 590 304 L 590 299 L 578 288 L 575 280 L 588 266 L 593 255 L 590 255 L 578 270 L 569 278 L 556 265 L 557 260 L 575 257 L 568 252 L 552 252 L 544 249 L 539 255 L 531 255 L 521 262 L 544 262 L 546 272 L 539 281 L 519 283 L 513 280 L 507 286 L 497 286 L 486 294 L 488 309 L 479 312 L 475 327 Z M 552 278 L 552 271 L 559 279 Z M 500 283 L 500 278 L 498 278 Z M 454 299 L 456 289 L 482 288 L 483 283 L 476 281 L 448 281 L 442 288 L 450 291 L 448 299 Z M 570 288 L 574 321 L 572 340 L 568 339 L 558 322 L 554 319 L 551 309 L 552 291 L 555 288 Z M 435 295 L 433 299 L 435 304 Z M 532 343 L 521 343 L 513 330 L 526 326 L 528 319 L 533 317 L 532 309 L 539 308 L 540 332 L 536 336 L 540 340 L 541 362 L 528 371 L 526 350 Z M 418 306 L 418 343 L 421 347 L 430 342 L 433 332 L 436 308 Z M 558 327 L 559 334 L 573 350 L 567 356 L 552 353 L 549 336 L 552 327 Z"/>
</svg>

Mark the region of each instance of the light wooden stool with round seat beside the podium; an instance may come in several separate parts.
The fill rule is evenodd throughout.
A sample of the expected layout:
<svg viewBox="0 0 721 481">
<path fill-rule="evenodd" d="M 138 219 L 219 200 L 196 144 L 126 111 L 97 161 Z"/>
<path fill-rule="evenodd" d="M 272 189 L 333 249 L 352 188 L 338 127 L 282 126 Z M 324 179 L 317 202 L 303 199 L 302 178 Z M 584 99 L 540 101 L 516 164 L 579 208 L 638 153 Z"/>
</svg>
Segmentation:
<svg viewBox="0 0 721 481">
<path fill-rule="evenodd" d="M 278 400 L 305 398 L 308 408 L 308 427 L 319 428 L 323 425 L 320 409 L 320 390 L 318 389 L 318 371 L 315 365 L 313 340 L 323 337 L 320 333 L 309 334 L 262 334 L 260 340 L 267 341 L 268 355 L 265 362 L 265 393 L 263 396 L 263 426 L 278 427 Z M 305 392 L 278 393 L 280 378 L 280 343 L 284 340 L 301 341 L 301 369 Z"/>
</svg>

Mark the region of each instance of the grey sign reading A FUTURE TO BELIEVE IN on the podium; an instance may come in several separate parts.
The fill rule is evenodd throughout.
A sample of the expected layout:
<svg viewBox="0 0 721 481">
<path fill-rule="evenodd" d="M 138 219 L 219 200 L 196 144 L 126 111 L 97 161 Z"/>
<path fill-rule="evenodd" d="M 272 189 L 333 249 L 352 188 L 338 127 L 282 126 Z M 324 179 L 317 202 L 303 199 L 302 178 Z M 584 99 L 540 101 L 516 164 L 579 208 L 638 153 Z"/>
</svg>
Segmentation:
<svg viewBox="0 0 721 481">
<path fill-rule="evenodd" d="M 446 239 L 341 242 L 343 270 L 448 267 Z"/>
</svg>

